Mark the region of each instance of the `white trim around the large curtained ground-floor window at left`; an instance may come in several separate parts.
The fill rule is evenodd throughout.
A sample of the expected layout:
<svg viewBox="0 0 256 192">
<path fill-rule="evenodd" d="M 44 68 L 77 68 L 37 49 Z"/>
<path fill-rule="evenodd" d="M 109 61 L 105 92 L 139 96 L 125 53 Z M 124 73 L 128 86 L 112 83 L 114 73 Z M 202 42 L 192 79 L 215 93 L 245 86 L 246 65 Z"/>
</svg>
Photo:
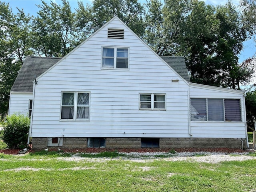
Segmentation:
<svg viewBox="0 0 256 192">
<path fill-rule="evenodd" d="M 62 119 L 61 118 L 63 93 L 74 93 L 74 115 L 73 115 L 73 119 Z M 77 116 L 76 111 L 77 111 L 77 107 L 78 107 L 78 104 L 77 104 L 77 95 L 78 95 L 78 93 L 89 93 L 88 119 L 78 119 L 78 118 L 76 118 L 76 116 Z M 61 92 L 61 100 L 60 100 L 60 121 L 90 121 L 90 101 L 91 101 L 91 92 L 88 92 L 88 91 L 62 91 Z M 85 106 L 85 105 L 79 105 L 79 106 Z"/>
</svg>

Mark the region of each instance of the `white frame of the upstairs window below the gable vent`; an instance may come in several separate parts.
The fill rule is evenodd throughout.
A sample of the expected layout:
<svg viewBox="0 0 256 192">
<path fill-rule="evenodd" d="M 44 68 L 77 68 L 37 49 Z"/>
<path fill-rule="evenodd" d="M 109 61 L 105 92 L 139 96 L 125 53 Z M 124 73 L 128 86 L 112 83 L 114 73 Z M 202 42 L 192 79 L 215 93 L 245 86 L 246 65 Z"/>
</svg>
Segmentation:
<svg viewBox="0 0 256 192">
<path fill-rule="evenodd" d="M 106 49 L 114 49 L 114 56 L 110 57 L 110 56 L 103 56 L 103 50 L 104 48 Z M 127 68 L 122 68 L 122 67 L 117 67 L 117 60 L 118 58 L 124 58 L 126 59 L 126 57 L 117 57 L 117 50 L 118 49 L 126 49 L 127 50 Z M 130 49 L 128 47 L 111 47 L 111 46 L 102 46 L 102 56 L 101 56 L 101 68 L 102 69 L 115 69 L 115 70 L 129 70 L 130 68 L 130 64 L 129 64 L 129 54 L 130 54 Z M 106 67 L 103 66 L 103 58 L 113 58 L 114 59 L 114 64 L 113 67 Z"/>
</svg>

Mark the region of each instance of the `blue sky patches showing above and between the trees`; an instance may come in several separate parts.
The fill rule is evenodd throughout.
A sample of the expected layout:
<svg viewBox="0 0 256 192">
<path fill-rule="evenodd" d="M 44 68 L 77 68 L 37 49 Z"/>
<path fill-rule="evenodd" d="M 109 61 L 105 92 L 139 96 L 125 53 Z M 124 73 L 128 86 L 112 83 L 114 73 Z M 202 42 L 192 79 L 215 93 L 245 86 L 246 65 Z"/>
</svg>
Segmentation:
<svg viewBox="0 0 256 192">
<path fill-rule="evenodd" d="M 53 0 L 57 4 L 61 3 L 61 0 Z M 70 6 L 72 7 L 72 11 L 75 11 L 75 8 L 77 8 L 77 0 L 68 0 L 70 3 Z M 139 0 L 142 4 L 146 3 L 146 0 Z M 212 4 L 214 6 L 225 4 L 228 0 L 204 0 L 206 4 Z M 2 2 L 6 2 L 10 4 L 10 7 L 12 8 L 12 11 L 14 13 L 17 12 L 16 7 L 23 8 L 24 12 L 33 16 L 36 16 L 36 12 L 38 12 L 39 8 L 36 6 L 38 4 L 41 4 L 41 0 L 3 0 Z M 45 0 L 45 2 L 49 2 L 50 0 Z M 84 4 L 90 4 L 92 0 L 82 0 Z M 232 2 L 235 5 L 239 5 L 239 0 L 232 0 Z M 246 60 L 249 57 L 252 57 L 256 52 L 256 44 L 253 39 L 250 39 L 246 42 L 244 42 L 244 49 L 239 55 L 239 62 L 242 62 Z"/>
</svg>

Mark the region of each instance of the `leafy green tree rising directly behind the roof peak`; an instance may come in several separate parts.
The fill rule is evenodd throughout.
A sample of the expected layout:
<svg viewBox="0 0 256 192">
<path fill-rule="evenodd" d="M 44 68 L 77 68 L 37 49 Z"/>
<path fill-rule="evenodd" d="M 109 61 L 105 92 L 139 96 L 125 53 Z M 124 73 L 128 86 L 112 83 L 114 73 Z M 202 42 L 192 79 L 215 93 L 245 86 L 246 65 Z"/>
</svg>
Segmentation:
<svg viewBox="0 0 256 192">
<path fill-rule="evenodd" d="M 137 0 L 94 0 L 84 6 L 78 2 L 76 9 L 77 27 L 81 40 L 86 39 L 108 20 L 118 16 L 139 37 L 144 33 L 144 8 Z"/>
</svg>

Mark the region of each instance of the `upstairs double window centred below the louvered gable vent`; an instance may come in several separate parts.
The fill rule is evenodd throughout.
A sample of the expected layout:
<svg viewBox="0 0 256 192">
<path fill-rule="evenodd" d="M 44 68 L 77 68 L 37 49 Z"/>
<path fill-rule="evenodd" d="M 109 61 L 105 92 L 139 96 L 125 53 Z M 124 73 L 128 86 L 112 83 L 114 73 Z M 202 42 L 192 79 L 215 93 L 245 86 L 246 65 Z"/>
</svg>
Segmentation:
<svg viewBox="0 0 256 192">
<path fill-rule="evenodd" d="M 128 48 L 102 48 L 102 68 L 128 68 Z"/>
</svg>

